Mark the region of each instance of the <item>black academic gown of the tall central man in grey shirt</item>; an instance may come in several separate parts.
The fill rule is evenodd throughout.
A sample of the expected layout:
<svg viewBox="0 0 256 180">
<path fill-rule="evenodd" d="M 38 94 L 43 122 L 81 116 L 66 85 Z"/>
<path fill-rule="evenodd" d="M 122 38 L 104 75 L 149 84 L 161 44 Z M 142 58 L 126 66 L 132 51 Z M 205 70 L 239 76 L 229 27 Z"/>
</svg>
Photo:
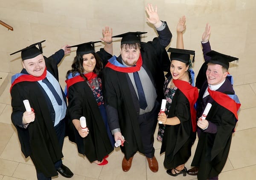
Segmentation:
<svg viewBox="0 0 256 180">
<path fill-rule="evenodd" d="M 167 26 L 167 25 L 166 25 Z M 143 68 L 147 72 L 157 91 L 157 101 L 163 99 L 163 83 L 165 77 L 163 71 L 169 71 L 170 60 L 165 47 L 168 46 L 172 34 L 168 26 L 163 31 L 157 31 L 158 38 L 147 43 L 141 42 L 141 56 Z M 121 55 L 117 61 L 122 64 Z M 120 146 L 125 158 L 129 159 L 137 151 L 144 154 L 143 142 L 140 134 L 138 117 L 140 105 L 134 87 L 128 73 L 115 71 L 109 67 L 103 70 L 103 95 L 107 109 L 109 126 L 111 130 L 120 128 L 127 143 Z M 117 111 L 118 116 L 113 116 L 109 109 Z M 160 110 L 160 107 L 159 107 Z M 154 126 L 157 124 L 156 123 Z M 119 125 L 119 126 L 118 126 Z M 151 136 L 148 135 L 148 136 Z"/>
</svg>

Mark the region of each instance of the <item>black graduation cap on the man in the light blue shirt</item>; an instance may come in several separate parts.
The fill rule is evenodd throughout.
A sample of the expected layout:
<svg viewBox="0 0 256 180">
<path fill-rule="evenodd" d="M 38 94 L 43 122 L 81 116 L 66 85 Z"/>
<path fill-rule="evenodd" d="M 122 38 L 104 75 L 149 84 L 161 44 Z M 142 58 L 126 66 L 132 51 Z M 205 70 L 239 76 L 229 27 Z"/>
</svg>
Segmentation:
<svg viewBox="0 0 256 180">
<path fill-rule="evenodd" d="M 41 42 L 32 44 L 30 46 L 27 46 L 26 48 L 20 49 L 20 50 L 18 50 L 16 52 L 13 52 L 10 55 L 16 54 L 17 52 L 21 52 L 21 59 L 22 59 L 22 61 L 24 61 L 26 59 L 35 58 L 36 56 L 38 56 L 38 55 L 43 53 L 42 43 L 44 41 L 41 41 Z M 36 45 L 38 45 L 39 49 L 36 47 Z"/>
</svg>

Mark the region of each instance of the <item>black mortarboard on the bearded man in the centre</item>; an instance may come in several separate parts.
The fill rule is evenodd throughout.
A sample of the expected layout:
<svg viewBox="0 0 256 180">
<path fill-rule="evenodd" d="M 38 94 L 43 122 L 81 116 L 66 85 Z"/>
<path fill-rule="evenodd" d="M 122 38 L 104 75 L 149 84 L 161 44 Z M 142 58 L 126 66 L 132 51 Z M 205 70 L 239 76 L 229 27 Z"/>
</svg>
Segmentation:
<svg viewBox="0 0 256 180">
<path fill-rule="evenodd" d="M 121 45 L 122 44 L 134 44 L 134 43 L 140 43 L 141 41 L 141 35 L 145 34 L 147 32 L 126 32 L 121 35 L 112 36 L 112 38 L 122 38 Z"/>
</svg>

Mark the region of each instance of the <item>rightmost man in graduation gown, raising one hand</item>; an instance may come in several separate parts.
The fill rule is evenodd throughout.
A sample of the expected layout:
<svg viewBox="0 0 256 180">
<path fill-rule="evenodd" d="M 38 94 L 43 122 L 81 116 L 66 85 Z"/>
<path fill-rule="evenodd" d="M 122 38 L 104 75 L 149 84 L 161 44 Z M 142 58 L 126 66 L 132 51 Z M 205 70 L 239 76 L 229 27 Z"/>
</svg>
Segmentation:
<svg viewBox="0 0 256 180">
<path fill-rule="evenodd" d="M 233 90 L 232 77 L 228 73 L 229 62 L 238 61 L 238 58 L 210 50 L 209 32 L 207 24 L 203 34 L 207 40 L 202 38 L 207 68 L 202 66 L 201 72 L 204 71 L 205 75 L 197 77 L 200 82 L 204 82 L 201 84 L 197 101 L 199 140 L 191 164 L 199 168 L 196 172 L 198 180 L 218 180 L 218 174 L 227 161 L 241 105 Z M 207 103 L 211 103 L 212 107 L 206 119 L 202 120 L 201 116 Z"/>
</svg>

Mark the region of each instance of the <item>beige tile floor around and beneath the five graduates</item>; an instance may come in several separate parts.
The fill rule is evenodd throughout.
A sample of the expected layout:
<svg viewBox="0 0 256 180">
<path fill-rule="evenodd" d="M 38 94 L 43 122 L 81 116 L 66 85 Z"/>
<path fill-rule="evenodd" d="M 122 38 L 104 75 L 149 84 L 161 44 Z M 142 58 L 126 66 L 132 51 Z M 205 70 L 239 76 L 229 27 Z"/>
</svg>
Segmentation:
<svg viewBox="0 0 256 180">
<path fill-rule="evenodd" d="M 79 4 L 79 7 L 77 6 Z M 35 180 L 32 161 L 25 159 L 20 151 L 17 132 L 11 123 L 10 76 L 21 69 L 19 55 L 11 52 L 47 38 L 44 54 L 50 55 L 62 44 L 98 41 L 105 25 L 113 27 L 113 35 L 124 31 L 146 31 L 143 41 L 151 40 L 156 34 L 146 23 L 144 7 L 147 3 L 158 6 L 161 20 L 166 20 L 176 44 L 176 24 L 179 17 L 186 15 L 187 29 L 184 33 L 185 49 L 196 51 L 195 73 L 203 62 L 201 35 L 207 22 L 212 25 L 210 42 L 212 49 L 239 57 L 238 64 L 230 65 L 234 76 L 234 89 L 241 101 L 239 122 L 233 134 L 227 163 L 219 175 L 220 180 L 256 179 L 256 2 L 255 0 L 140 0 L 127 3 L 122 0 L 0 0 L 0 20 L 10 23 L 13 32 L 0 26 L 0 180 Z M 115 9 L 114 11 L 112 9 Z M 122 14 L 122 16 L 119 16 Z M 136 27 L 136 28 L 134 28 Z M 126 29 L 126 30 L 124 30 Z M 119 42 L 114 42 L 114 54 L 119 55 Z M 102 45 L 101 45 L 102 47 Z M 96 49 L 99 47 L 97 46 Z M 74 49 L 75 50 L 75 49 Z M 64 76 L 72 57 L 64 58 L 59 67 L 60 83 L 64 87 Z M 1 72 L 4 72 L 2 75 Z M 9 81 L 9 82 L 8 82 Z M 6 83 L 8 82 L 8 83 Z M 195 152 L 192 147 L 192 154 Z M 159 155 L 161 143 L 155 141 L 155 156 L 159 171 L 149 170 L 145 157 L 136 154 L 131 170 L 123 172 L 123 154 L 116 148 L 108 157 L 108 165 L 91 164 L 79 155 L 76 145 L 67 138 L 64 141 L 63 162 L 73 172 L 72 180 L 195 180 L 196 177 L 170 177 L 163 167 L 164 155 Z M 192 157 L 186 163 L 190 168 Z M 64 180 L 64 177 L 53 179 Z"/>
</svg>

